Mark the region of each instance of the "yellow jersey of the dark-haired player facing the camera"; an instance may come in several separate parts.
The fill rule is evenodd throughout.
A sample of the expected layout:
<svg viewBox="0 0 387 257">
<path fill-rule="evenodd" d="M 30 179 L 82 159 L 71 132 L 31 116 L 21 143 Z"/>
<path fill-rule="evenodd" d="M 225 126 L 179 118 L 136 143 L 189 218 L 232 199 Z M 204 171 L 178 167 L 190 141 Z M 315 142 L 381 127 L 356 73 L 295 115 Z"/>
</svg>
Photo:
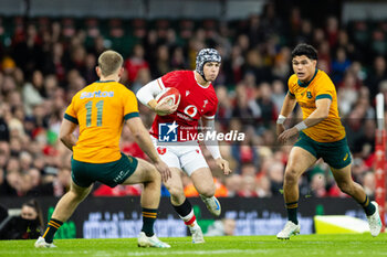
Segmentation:
<svg viewBox="0 0 387 257">
<path fill-rule="evenodd" d="M 289 93 L 295 96 L 303 119 L 306 119 L 315 109 L 317 99 L 330 98 L 332 100 L 330 114 L 320 124 L 304 129 L 303 132 L 317 142 L 334 142 L 345 137 L 345 129 L 338 116 L 337 95 L 335 85 L 325 72 L 316 69 L 310 83 L 302 83 L 293 74 L 287 82 Z"/>
</svg>

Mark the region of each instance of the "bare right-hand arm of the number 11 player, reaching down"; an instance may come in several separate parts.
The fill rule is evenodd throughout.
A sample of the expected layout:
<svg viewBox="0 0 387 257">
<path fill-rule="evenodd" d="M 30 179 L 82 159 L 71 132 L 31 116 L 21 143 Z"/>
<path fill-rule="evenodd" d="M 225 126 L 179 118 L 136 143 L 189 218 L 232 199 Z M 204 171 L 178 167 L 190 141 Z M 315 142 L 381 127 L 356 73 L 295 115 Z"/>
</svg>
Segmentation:
<svg viewBox="0 0 387 257">
<path fill-rule="evenodd" d="M 134 136 L 137 144 L 150 158 L 156 169 L 160 172 L 161 180 L 166 182 L 169 178 L 171 178 L 170 170 L 167 164 L 165 164 L 158 157 L 156 149 L 151 142 L 149 132 L 144 127 L 142 119 L 139 117 L 133 117 L 128 119 L 126 124 L 130 129 L 130 132 Z"/>
</svg>

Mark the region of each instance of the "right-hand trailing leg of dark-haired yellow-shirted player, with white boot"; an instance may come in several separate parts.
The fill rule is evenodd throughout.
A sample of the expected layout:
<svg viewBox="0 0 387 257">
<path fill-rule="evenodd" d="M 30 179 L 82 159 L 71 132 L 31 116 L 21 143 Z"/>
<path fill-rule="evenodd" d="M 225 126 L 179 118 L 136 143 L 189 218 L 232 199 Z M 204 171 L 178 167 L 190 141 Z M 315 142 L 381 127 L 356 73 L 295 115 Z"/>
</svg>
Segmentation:
<svg viewBox="0 0 387 257">
<path fill-rule="evenodd" d="M 351 175 L 351 164 L 342 169 L 332 168 L 332 173 L 338 188 L 346 194 L 351 195 L 362 205 L 367 215 L 370 234 L 377 236 L 381 229 L 381 221 L 379 216 L 378 205 L 376 202 L 370 202 L 362 185 L 353 181 Z"/>
</svg>

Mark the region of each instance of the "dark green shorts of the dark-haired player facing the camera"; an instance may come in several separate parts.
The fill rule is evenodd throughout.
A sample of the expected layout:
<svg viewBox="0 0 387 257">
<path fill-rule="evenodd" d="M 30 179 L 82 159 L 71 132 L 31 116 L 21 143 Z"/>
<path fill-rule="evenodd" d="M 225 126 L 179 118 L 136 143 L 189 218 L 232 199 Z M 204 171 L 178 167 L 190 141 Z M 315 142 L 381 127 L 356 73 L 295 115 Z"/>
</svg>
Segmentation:
<svg viewBox="0 0 387 257">
<path fill-rule="evenodd" d="M 317 159 L 323 158 L 334 169 L 343 169 L 352 161 L 346 137 L 335 142 L 317 142 L 301 131 L 294 147 L 301 147 Z"/>
</svg>

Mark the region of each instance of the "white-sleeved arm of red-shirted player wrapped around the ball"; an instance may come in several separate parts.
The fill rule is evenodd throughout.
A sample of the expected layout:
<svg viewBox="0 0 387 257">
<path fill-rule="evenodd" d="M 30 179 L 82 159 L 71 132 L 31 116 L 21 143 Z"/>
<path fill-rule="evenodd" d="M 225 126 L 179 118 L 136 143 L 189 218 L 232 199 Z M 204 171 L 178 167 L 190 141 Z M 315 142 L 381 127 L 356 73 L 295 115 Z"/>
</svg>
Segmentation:
<svg viewBox="0 0 387 257">
<path fill-rule="evenodd" d="M 157 103 L 155 97 L 164 89 L 161 78 L 157 78 L 143 86 L 136 94 L 137 99 L 157 115 L 165 116 L 176 111 L 177 105 L 170 106 L 166 101 Z"/>
</svg>

